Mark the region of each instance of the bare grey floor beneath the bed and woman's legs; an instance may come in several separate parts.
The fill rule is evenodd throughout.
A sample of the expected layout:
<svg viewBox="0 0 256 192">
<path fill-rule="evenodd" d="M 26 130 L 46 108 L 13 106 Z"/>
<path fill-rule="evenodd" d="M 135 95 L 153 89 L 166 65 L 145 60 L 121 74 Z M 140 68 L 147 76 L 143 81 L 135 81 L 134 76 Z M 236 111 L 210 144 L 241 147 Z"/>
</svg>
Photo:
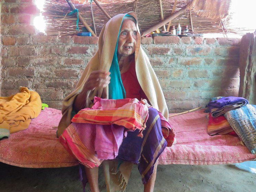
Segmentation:
<svg viewBox="0 0 256 192">
<path fill-rule="evenodd" d="M 78 167 L 31 169 L 0 163 L 1 192 L 82 192 Z M 100 191 L 105 181 L 100 168 Z M 234 165 L 159 165 L 155 192 L 255 192 L 256 174 Z M 88 185 L 86 187 L 88 190 Z M 126 192 L 142 192 L 137 166 L 133 166 Z"/>
</svg>

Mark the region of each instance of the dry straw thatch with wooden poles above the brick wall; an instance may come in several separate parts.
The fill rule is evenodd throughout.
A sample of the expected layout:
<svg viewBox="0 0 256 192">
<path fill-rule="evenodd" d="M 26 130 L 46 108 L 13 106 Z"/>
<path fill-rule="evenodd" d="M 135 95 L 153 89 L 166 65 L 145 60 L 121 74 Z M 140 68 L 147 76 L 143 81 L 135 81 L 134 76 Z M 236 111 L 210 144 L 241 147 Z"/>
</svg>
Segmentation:
<svg viewBox="0 0 256 192">
<path fill-rule="evenodd" d="M 191 0 L 189 0 L 191 1 Z M 194 0 L 195 2 L 199 0 Z M 201 1 L 201 0 L 200 0 Z M 206 2 L 207 0 L 202 0 Z M 212 0 L 210 0 L 212 1 Z M 219 0 L 215 0 L 219 1 Z M 230 1 L 230 0 L 229 0 Z M 79 10 L 79 13 L 82 15 L 83 19 L 88 23 L 89 26 L 93 26 L 91 8 L 89 0 L 73 0 L 75 8 Z M 75 4 L 79 3 L 79 4 Z M 146 29 L 154 26 L 155 24 L 161 21 L 160 16 L 160 6 L 158 0 L 98 0 L 98 3 L 101 4 L 103 9 L 110 15 L 110 17 L 119 14 L 126 13 L 129 11 L 135 11 L 138 16 L 138 25 L 140 31 L 146 31 Z M 163 16 L 164 18 L 170 16 L 171 11 L 173 9 L 174 0 L 162 0 L 163 7 Z M 186 1 L 177 0 L 177 4 L 175 7 L 175 11 L 181 9 L 184 5 L 186 5 Z M 207 7 L 207 6 L 206 6 Z M 206 8 L 205 7 L 205 8 Z M 209 6 L 208 6 L 209 7 Z M 108 18 L 103 14 L 103 12 L 97 7 L 96 4 L 92 4 L 93 15 L 95 21 L 95 27 L 97 34 L 100 34 L 102 27 L 108 21 Z M 194 8 L 195 9 L 195 4 Z M 191 16 L 193 20 L 194 31 L 197 33 L 222 33 L 223 27 L 227 25 L 223 19 L 220 17 L 216 17 L 215 19 L 209 19 L 206 17 L 202 17 L 200 12 L 202 12 L 201 8 L 196 11 L 191 10 Z M 228 11 L 227 7 L 223 7 L 223 10 L 220 12 L 223 15 L 227 15 L 225 11 Z M 77 16 L 67 14 L 70 13 L 70 7 L 65 0 L 46 0 L 45 8 L 43 15 L 45 16 L 46 21 L 46 32 L 49 31 L 58 31 L 60 35 L 75 35 L 78 32 L 76 29 L 76 21 Z M 211 11 L 212 12 L 212 9 Z M 210 12 L 205 14 L 204 16 L 209 16 Z M 188 25 L 190 28 L 190 19 L 189 19 L 189 10 L 184 12 L 183 14 L 176 17 L 172 20 L 171 25 L 177 26 L 179 24 Z M 82 28 L 82 23 L 79 22 L 79 29 Z"/>
</svg>

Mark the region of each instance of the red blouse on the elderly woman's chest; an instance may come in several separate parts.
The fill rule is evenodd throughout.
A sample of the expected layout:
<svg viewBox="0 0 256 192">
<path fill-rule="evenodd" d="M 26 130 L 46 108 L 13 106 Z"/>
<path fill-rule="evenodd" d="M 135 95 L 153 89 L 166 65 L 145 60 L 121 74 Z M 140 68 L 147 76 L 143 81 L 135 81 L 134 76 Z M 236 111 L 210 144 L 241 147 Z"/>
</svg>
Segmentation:
<svg viewBox="0 0 256 192">
<path fill-rule="evenodd" d="M 135 60 L 132 60 L 128 71 L 121 74 L 121 80 L 125 88 L 126 98 L 137 98 L 139 101 L 141 98 L 148 100 L 137 79 Z"/>
</svg>

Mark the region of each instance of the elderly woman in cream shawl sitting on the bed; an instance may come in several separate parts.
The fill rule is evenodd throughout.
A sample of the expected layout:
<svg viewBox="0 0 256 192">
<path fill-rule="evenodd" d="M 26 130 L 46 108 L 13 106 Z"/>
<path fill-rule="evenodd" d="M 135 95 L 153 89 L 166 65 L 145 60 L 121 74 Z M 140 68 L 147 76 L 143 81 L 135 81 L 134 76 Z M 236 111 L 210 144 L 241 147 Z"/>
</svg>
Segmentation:
<svg viewBox="0 0 256 192">
<path fill-rule="evenodd" d="M 98 51 L 84 69 L 75 90 L 63 101 L 63 116 L 57 136 L 60 136 L 60 141 L 67 150 L 85 166 L 91 191 L 99 191 L 98 166 L 104 159 L 97 159 L 96 152 L 90 156 L 89 154 L 94 153 L 94 148 L 85 144 L 89 137 L 90 140 L 95 139 L 95 136 L 93 139 L 91 135 L 88 136 L 89 132 L 94 134 L 95 127 L 91 129 L 90 124 L 71 123 L 71 119 L 81 109 L 91 108 L 95 96 L 106 99 L 137 98 L 139 101 L 146 99 L 152 106 L 148 109 L 146 129 L 142 132 L 144 136 L 137 136 L 139 130 L 135 130 L 128 131 L 123 139 L 122 133 L 123 141 L 118 145 L 115 160 L 103 161 L 107 191 L 125 190 L 133 164 L 139 164 L 144 191 L 153 191 L 158 157 L 166 145 L 171 146 L 173 143 L 174 133 L 166 120 L 168 109 L 163 92 L 149 59 L 141 48 L 140 39 L 134 12 L 119 14 L 110 19 L 99 36 Z M 104 126 L 100 129 L 104 129 Z M 168 127 L 164 131 L 165 136 L 163 127 Z M 74 138 L 79 138 L 79 141 Z M 168 144 L 165 139 L 169 140 Z"/>
</svg>

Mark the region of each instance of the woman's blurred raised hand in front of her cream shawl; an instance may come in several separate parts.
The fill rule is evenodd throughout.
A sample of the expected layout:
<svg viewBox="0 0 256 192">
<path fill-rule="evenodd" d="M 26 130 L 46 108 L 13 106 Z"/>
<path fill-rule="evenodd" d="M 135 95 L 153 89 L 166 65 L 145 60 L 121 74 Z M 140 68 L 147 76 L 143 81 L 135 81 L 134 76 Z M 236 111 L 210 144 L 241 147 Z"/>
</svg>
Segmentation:
<svg viewBox="0 0 256 192">
<path fill-rule="evenodd" d="M 105 88 L 110 83 L 110 72 L 106 71 L 92 71 L 88 80 L 83 86 L 83 91 L 88 92 L 96 87 Z"/>
</svg>

